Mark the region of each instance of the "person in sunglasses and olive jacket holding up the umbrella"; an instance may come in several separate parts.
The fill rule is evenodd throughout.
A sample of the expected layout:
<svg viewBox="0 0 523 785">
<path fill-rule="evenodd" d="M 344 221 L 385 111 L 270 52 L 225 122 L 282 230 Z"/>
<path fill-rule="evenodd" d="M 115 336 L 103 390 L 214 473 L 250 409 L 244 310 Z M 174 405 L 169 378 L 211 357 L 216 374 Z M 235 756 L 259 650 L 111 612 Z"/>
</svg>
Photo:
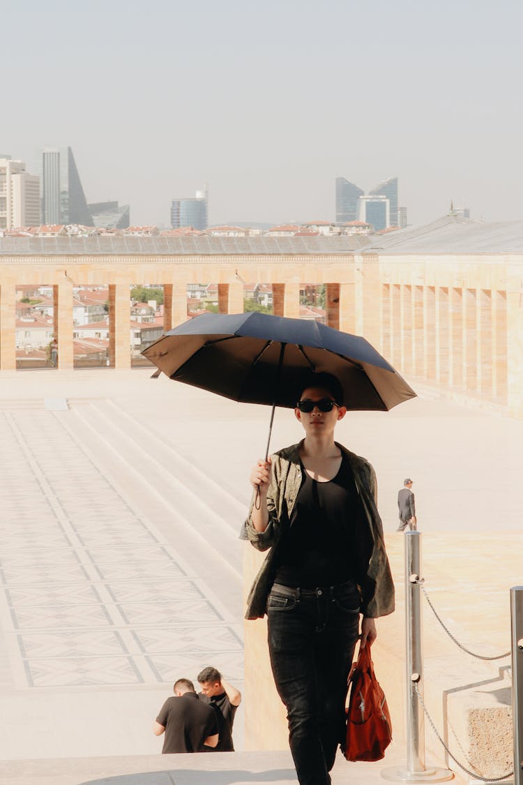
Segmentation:
<svg viewBox="0 0 523 785">
<path fill-rule="evenodd" d="M 347 675 L 358 640 L 376 639 L 375 618 L 394 610 L 394 586 L 376 509 L 376 476 L 334 440 L 343 389 L 311 374 L 295 414 L 305 430 L 252 469 L 246 532 L 270 549 L 249 593 L 247 619 L 268 617 L 274 681 L 287 709 L 300 785 L 328 785 L 344 740 Z"/>
</svg>

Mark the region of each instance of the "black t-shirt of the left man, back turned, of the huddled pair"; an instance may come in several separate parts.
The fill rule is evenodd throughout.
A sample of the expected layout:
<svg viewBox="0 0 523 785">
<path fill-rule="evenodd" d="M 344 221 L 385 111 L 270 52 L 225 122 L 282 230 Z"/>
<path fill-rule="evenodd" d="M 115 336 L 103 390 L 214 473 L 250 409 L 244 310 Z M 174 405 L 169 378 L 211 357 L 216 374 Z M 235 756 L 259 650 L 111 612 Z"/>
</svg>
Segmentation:
<svg viewBox="0 0 523 785">
<path fill-rule="evenodd" d="M 220 730 L 216 712 L 199 700 L 196 692 L 168 698 L 156 721 L 165 728 L 162 753 L 209 752 L 212 747 L 203 743 Z"/>
</svg>

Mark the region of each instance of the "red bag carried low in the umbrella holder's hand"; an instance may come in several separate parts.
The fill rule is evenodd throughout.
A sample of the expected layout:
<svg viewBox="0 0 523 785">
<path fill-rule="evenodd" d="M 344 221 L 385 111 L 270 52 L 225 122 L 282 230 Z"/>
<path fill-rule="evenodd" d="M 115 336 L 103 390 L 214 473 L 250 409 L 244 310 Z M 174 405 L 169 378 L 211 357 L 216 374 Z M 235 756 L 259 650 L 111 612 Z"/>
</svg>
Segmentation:
<svg viewBox="0 0 523 785">
<path fill-rule="evenodd" d="M 347 693 L 347 761 L 380 761 L 392 739 L 387 700 L 376 679 L 370 646 L 360 648 L 350 670 Z"/>
</svg>

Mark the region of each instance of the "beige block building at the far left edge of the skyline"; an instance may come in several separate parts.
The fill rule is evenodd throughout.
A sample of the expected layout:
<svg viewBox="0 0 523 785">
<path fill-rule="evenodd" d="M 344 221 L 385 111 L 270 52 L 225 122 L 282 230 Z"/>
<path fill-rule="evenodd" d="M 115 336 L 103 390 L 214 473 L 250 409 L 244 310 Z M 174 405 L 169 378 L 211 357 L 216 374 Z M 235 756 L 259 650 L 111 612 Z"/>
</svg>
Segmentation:
<svg viewBox="0 0 523 785">
<path fill-rule="evenodd" d="M 40 178 L 23 161 L 0 157 L 0 231 L 40 223 Z"/>
</svg>

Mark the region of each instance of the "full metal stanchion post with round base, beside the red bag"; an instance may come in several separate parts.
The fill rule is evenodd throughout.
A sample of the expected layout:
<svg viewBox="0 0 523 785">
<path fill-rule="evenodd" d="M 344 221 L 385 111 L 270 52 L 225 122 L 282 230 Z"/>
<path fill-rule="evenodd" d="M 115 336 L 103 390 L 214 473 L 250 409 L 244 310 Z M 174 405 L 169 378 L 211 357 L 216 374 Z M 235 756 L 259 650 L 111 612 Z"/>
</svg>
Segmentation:
<svg viewBox="0 0 523 785">
<path fill-rule="evenodd" d="M 407 765 L 383 769 L 381 776 L 392 782 L 438 783 L 452 780 L 449 769 L 425 768 L 423 708 L 416 688 L 423 698 L 423 648 L 421 623 L 421 533 L 405 533 L 405 632 L 406 632 L 406 703 Z"/>
</svg>

